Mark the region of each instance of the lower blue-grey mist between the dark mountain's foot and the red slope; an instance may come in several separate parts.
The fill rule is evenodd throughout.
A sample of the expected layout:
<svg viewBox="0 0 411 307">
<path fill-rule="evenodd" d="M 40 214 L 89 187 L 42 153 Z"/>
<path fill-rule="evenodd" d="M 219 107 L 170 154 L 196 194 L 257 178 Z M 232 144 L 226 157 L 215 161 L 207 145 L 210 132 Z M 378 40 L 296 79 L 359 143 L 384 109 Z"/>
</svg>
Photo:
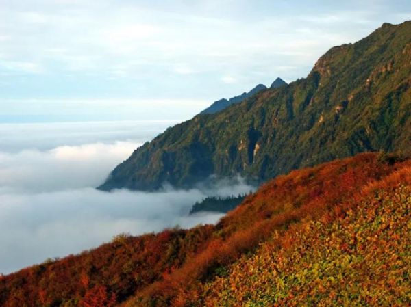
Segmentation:
<svg viewBox="0 0 411 307">
<path fill-rule="evenodd" d="M 0 272 L 10 273 L 110 241 L 179 225 L 214 223 L 221 215 L 188 217 L 199 190 L 104 193 L 92 188 L 0 194 Z"/>
</svg>

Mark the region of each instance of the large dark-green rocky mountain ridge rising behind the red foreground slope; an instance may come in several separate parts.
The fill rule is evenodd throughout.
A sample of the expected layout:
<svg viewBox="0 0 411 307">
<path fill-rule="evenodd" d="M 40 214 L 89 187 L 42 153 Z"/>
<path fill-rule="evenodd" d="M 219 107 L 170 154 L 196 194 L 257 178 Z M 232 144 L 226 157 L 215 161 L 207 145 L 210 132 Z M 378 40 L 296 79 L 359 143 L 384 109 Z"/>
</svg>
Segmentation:
<svg viewBox="0 0 411 307">
<path fill-rule="evenodd" d="M 330 49 L 305 79 L 167 129 L 103 190 L 192 187 L 211 175 L 260 183 L 358 152 L 411 150 L 411 21 Z"/>
</svg>

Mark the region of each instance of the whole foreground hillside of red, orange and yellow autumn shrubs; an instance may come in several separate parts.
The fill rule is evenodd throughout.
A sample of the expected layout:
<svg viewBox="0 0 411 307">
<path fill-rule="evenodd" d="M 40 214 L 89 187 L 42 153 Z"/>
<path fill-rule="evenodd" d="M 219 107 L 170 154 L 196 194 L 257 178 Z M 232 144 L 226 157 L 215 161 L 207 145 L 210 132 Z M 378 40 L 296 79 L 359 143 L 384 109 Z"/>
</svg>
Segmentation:
<svg viewBox="0 0 411 307">
<path fill-rule="evenodd" d="M 364 153 L 279 176 L 215 226 L 0 277 L 2 307 L 408 306 L 411 160 Z"/>
</svg>

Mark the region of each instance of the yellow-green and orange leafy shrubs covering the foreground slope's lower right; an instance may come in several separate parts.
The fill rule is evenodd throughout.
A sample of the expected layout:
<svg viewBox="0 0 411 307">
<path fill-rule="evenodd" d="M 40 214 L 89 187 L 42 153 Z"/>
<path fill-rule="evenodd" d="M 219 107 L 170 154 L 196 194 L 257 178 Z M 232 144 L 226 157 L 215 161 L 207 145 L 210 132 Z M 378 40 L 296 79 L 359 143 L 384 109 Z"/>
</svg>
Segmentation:
<svg viewBox="0 0 411 307">
<path fill-rule="evenodd" d="M 410 306 L 410 196 L 378 191 L 339 219 L 274 233 L 190 306 Z"/>
</svg>

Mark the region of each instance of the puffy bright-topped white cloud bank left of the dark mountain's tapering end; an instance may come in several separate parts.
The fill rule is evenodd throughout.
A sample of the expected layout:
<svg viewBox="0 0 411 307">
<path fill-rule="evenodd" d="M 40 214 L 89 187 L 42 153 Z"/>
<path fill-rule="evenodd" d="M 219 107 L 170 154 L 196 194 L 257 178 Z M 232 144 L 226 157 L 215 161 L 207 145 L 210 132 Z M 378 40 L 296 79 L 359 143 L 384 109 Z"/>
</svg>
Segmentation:
<svg viewBox="0 0 411 307">
<path fill-rule="evenodd" d="M 0 152 L 0 187 L 13 193 L 97 187 L 139 145 L 95 143 L 46 151 Z"/>
</svg>

